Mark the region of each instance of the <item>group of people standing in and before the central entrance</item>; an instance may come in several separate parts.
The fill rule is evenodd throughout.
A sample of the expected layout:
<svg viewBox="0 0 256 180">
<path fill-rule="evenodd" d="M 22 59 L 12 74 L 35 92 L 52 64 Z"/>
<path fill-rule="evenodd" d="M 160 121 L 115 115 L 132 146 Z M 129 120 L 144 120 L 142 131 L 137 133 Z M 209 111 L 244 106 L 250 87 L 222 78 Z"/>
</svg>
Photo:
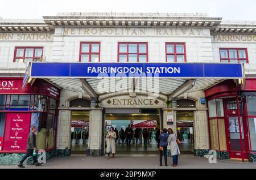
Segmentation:
<svg viewBox="0 0 256 180">
<path fill-rule="evenodd" d="M 151 136 L 150 132 L 148 132 L 147 128 L 144 128 L 141 132 L 140 128 L 136 128 L 135 131 L 133 131 L 133 128 L 129 125 L 126 130 L 123 130 L 121 128 L 120 130 L 120 138 L 122 139 L 122 143 L 127 144 L 127 148 L 130 148 L 131 145 L 131 139 L 135 138 L 136 143 L 138 143 L 138 140 L 141 140 L 141 134 L 143 136 L 143 144 L 144 147 L 147 148 L 147 142 L 148 138 Z M 110 152 L 112 153 L 113 157 L 115 155 L 115 144 L 117 142 L 118 138 L 118 130 L 117 128 L 114 129 L 114 127 L 111 127 L 106 135 L 106 153 L 108 153 L 107 159 L 110 158 Z M 159 149 L 159 162 L 160 166 L 162 166 L 163 162 L 163 156 L 164 156 L 164 164 L 168 166 L 167 164 L 167 152 L 170 151 L 172 156 L 172 166 L 176 167 L 178 164 L 178 156 L 180 155 L 180 140 L 177 139 L 176 134 L 172 130 L 172 128 L 163 128 L 162 131 L 160 131 L 159 128 L 156 127 L 156 134 L 155 134 L 155 140 L 158 143 L 158 149 Z"/>
</svg>

